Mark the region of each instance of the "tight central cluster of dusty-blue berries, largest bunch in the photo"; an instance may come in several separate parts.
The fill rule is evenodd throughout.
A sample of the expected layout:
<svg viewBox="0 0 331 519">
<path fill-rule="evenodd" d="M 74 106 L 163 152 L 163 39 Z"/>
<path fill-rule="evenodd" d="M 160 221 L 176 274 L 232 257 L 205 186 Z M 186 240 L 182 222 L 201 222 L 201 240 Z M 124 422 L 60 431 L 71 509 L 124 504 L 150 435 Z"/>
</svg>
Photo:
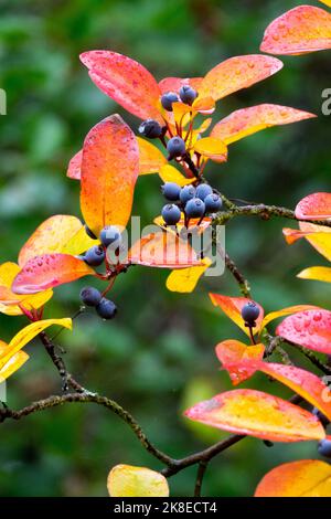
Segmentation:
<svg viewBox="0 0 331 519">
<path fill-rule="evenodd" d="M 205 214 L 222 209 L 221 197 L 206 183 L 201 183 L 195 189 L 193 186 L 180 188 L 175 182 L 166 182 L 161 189 L 163 197 L 170 202 L 161 212 L 167 225 L 175 225 L 180 221 L 181 210 L 186 220 L 191 218 L 202 220 Z"/>
</svg>

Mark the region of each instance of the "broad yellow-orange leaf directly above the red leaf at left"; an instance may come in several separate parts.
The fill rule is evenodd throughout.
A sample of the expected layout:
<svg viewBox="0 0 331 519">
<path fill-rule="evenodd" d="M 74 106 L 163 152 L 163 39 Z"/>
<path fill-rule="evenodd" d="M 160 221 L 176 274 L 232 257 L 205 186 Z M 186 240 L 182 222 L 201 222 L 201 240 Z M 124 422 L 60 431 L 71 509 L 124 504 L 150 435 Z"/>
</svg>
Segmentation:
<svg viewBox="0 0 331 519">
<path fill-rule="evenodd" d="M 45 220 L 22 246 L 19 265 L 23 267 L 29 260 L 42 254 L 78 255 L 97 243 L 86 234 L 76 216 L 56 214 Z"/>
</svg>

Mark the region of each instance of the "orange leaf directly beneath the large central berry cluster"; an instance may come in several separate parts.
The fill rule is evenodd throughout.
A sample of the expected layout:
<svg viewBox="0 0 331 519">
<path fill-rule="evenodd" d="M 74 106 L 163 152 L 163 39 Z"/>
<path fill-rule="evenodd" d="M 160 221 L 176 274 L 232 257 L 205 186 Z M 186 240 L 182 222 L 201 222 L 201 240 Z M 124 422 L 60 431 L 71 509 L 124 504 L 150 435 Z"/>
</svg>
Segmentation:
<svg viewBox="0 0 331 519">
<path fill-rule="evenodd" d="M 184 268 L 201 266 L 194 250 L 173 233 L 148 234 L 135 243 L 129 251 L 128 263 L 160 268 Z"/>
</svg>

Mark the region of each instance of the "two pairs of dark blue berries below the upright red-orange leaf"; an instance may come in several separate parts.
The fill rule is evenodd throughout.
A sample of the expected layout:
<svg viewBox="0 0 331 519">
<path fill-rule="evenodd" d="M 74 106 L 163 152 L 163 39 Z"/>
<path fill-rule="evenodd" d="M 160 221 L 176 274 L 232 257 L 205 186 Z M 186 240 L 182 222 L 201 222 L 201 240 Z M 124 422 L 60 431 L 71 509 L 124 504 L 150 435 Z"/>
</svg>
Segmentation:
<svg viewBox="0 0 331 519">
<path fill-rule="evenodd" d="M 85 225 L 86 234 L 93 240 L 97 240 L 97 236 Z M 121 234 L 115 225 L 106 225 L 99 235 L 100 245 L 94 245 L 82 256 L 82 260 L 87 265 L 97 267 L 102 265 L 106 260 L 106 248 L 119 251 L 121 245 Z M 102 293 L 92 286 L 87 286 L 81 290 L 81 300 L 84 305 L 94 307 L 97 314 L 103 319 L 113 319 L 117 313 L 116 305 L 103 297 Z"/>
</svg>

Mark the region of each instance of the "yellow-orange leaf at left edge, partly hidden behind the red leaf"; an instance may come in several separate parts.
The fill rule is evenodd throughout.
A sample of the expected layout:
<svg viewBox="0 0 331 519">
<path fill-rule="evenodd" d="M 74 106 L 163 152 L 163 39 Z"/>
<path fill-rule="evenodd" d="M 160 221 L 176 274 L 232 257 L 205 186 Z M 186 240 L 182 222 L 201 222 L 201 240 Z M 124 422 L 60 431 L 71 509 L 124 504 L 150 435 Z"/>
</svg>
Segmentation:
<svg viewBox="0 0 331 519">
<path fill-rule="evenodd" d="M 33 295 L 18 295 L 11 289 L 12 283 L 21 268 L 15 263 L 7 262 L 0 266 L 0 313 L 8 316 L 23 314 L 20 306 L 26 310 L 41 308 L 53 296 L 52 290 Z"/>
</svg>

